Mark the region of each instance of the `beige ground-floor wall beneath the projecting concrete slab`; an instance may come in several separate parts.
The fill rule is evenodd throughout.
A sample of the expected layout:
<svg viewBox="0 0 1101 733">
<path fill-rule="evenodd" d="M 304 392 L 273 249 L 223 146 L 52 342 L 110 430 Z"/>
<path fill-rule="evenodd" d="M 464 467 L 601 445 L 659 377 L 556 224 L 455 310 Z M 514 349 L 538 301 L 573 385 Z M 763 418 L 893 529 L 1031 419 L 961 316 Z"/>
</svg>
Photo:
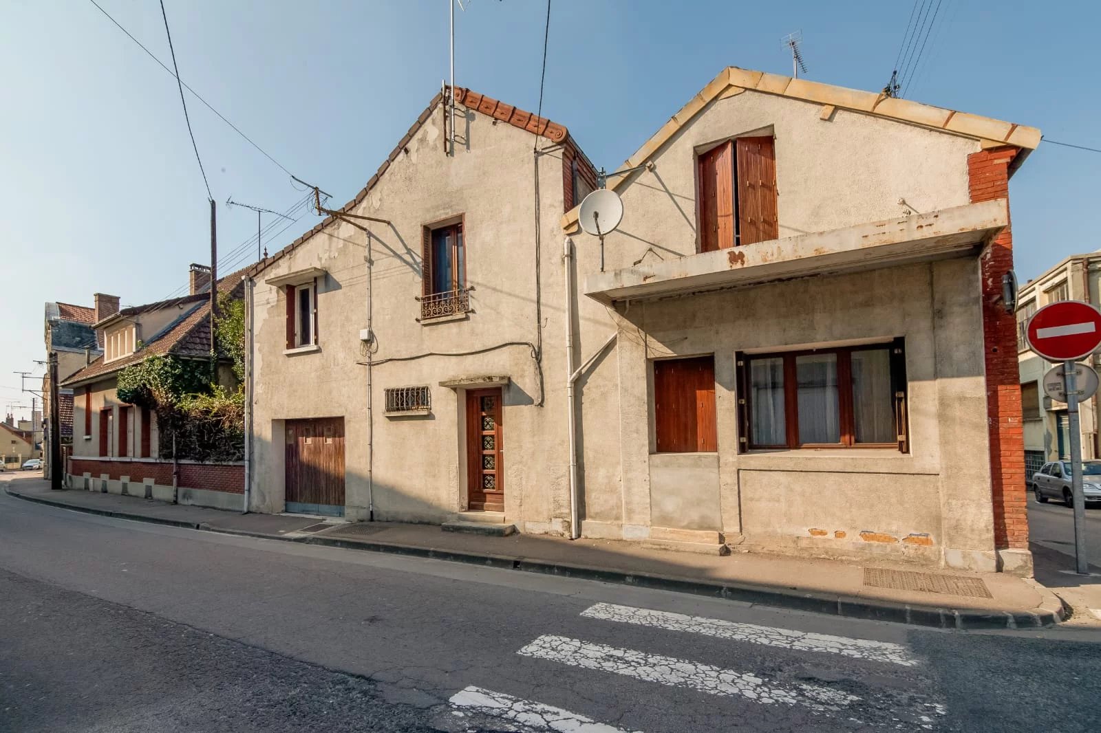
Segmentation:
<svg viewBox="0 0 1101 733">
<path fill-rule="evenodd" d="M 973 259 L 621 307 L 622 486 L 586 481 L 585 534 L 719 530 L 750 546 L 889 555 L 993 569 L 978 265 Z M 739 453 L 734 354 L 906 339 L 908 455 L 882 449 Z M 655 358 L 713 353 L 717 453 L 652 453 Z M 604 371 L 604 368 L 601 368 Z M 614 366 L 608 371 L 615 371 Z M 614 449 L 586 393 L 587 462 Z M 608 436 L 596 444 L 593 436 Z M 595 524 L 589 529 L 589 521 Z M 861 533 L 864 533 L 863 535 Z"/>
</svg>

